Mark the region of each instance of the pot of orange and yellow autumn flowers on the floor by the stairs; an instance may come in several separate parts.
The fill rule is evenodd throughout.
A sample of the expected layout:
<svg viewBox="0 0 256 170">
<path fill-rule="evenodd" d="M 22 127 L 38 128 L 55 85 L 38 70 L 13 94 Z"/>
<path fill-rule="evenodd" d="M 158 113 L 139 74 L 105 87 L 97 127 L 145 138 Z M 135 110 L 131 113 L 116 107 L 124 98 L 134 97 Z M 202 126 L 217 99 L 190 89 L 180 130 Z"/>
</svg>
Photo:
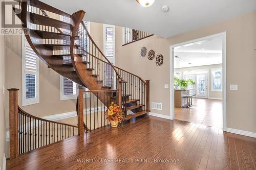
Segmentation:
<svg viewBox="0 0 256 170">
<path fill-rule="evenodd" d="M 122 110 L 118 105 L 111 102 L 110 107 L 105 111 L 106 119 L 111 122 L 111 127 L 116 128 L 119 124 L 122 123 Z"/>
</svg>

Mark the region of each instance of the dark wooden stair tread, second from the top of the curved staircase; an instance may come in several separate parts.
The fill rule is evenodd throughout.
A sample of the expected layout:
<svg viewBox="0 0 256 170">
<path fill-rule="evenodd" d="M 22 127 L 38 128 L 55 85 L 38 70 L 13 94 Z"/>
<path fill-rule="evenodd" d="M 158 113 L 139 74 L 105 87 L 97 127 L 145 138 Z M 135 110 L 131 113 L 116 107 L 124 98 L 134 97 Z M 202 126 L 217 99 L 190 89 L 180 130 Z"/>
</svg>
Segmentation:
<svg viewBox="0 0 256 170">
<path fill-rule="evenodd" d="M 70 23 L 29 12 L 34 24 L 70 30 Z"/>
</svg>

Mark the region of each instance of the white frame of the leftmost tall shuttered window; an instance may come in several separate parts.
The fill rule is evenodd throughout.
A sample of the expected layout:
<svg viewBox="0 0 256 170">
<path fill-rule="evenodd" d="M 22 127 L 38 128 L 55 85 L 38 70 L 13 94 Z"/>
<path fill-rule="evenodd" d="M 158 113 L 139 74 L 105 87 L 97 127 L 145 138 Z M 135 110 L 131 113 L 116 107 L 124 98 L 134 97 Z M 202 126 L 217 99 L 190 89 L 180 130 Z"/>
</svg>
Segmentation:
<svg viewBox="0 0 256 170">
<path fill-rule="evenodd" d="M 26 71 L 26 52 L 25 46 L 28 43 L 25 35 L 22 35 L 22 106 L 28 106 L 39 103 L 39 57 L 36 57 L 36 71 Z M 29 44 L 29 43 L 28 43 Z M 32 49 L 33 50 L 33 49 Z M 35 75 L 35 98 L 26 99 L 26 74 Z"/>
</svg>

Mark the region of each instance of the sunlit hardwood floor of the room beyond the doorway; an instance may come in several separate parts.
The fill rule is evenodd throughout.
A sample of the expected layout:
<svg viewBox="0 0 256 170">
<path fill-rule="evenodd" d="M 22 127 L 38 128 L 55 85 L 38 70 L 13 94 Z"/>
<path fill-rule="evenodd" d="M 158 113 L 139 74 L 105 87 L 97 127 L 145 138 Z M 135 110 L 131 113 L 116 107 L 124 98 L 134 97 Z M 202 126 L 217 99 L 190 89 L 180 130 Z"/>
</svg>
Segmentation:
<svg viewBox="0 0 256 170">
<path fill-rule="evenodd" d="M 175 119 L 222 128 L 222 100 L 193 99 L 194 107 L 175 108 Z"/>
</svg>

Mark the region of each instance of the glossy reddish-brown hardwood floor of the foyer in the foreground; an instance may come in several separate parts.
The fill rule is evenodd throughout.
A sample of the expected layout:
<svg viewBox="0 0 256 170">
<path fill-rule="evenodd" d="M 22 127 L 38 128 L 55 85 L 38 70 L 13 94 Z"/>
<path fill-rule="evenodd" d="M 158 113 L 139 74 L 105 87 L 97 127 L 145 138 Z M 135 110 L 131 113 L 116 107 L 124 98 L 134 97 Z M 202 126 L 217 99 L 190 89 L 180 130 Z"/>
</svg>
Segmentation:
<svg viewBox="0 0 256 170">
<path fill-rule="evenodd" d="M 153 116 L 118 128 L 100 128 L 7 161 L 7 169 L 255 169 L 255 165 L 255 138 Z"/>
</svg>

